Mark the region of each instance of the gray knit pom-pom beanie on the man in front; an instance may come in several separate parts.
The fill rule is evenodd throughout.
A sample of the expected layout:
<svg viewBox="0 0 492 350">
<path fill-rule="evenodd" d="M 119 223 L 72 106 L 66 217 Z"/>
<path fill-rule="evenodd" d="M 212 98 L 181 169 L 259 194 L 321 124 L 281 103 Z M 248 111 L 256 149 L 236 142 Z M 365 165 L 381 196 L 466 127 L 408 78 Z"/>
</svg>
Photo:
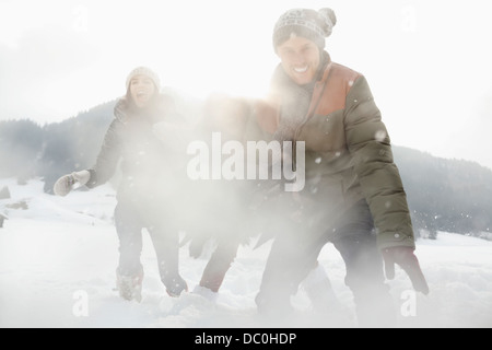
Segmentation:
<svg viewBox="0 0 492 350">
<path fill-rule="evenodd" d="M 331 35 L 335 24 L 337 24 L 337 16 L 331 9 L 319 11 L 311 9 L 289 10 L 276 23 L 273 48 L 277 50 L 277 47 L 292 35 L 297 35 L 312 40 L 323 50 L 325 38 Z"/>
</svg>

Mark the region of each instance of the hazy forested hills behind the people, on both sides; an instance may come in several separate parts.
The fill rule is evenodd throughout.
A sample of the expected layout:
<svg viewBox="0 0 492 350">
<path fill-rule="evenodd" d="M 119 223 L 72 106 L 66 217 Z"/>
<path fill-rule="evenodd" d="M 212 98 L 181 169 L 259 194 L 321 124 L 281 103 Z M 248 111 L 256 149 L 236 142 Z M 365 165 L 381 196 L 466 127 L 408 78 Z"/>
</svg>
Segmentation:
<svg viewBox="0 0 492 350">
<path fill-rule="evenodd" d="M 60 175 L 93 165 L 115 103 L 44 126 L 26 119 L 0 121 L 0 177 L 15 177 L 21 184 L 42 177 L 45 192 L 51 194 Z M 397 145 L 394 156 L 418 234 L 433 238 L 446 231 L 490 238 L 491 170 Z"/>
</svg>

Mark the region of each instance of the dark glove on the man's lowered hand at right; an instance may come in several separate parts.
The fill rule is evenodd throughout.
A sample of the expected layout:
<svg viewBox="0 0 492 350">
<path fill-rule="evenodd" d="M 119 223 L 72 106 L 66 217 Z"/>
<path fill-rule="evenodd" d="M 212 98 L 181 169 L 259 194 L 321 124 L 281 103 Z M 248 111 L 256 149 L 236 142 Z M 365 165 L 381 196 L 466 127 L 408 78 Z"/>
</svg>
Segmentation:
<svg viewBox="0 0 492 350">
<path fill-rule="evenodd" d="M 413 250 L 412 247 L 403 246 L 383 249 L 386 277 L 389 280 L 395 278 L 395 264 L 398 264 L 407 272 L 413 289 L 426 295 L 429 294 L 427 281 L 420 269 L 419 260 Z"/>
</svg>

